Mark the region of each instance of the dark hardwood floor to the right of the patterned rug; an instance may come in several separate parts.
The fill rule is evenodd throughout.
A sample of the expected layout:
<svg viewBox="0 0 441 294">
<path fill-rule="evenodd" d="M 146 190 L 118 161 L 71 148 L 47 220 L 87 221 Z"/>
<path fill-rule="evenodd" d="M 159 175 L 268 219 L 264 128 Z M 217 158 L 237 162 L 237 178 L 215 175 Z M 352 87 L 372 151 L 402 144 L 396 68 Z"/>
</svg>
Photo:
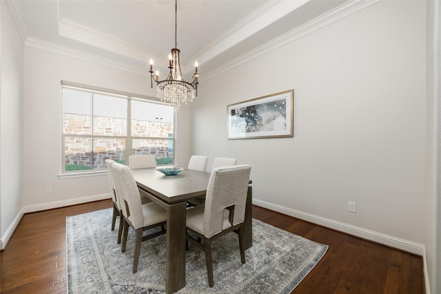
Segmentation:
<svg viewBox="0 0 441 294">
<path fill-rule="evenodd" d="M 421 256 L 261 207 L 253 207 L 253 217 L 329 246 L 292 293 L 424 293 Z"/>
</svg>

